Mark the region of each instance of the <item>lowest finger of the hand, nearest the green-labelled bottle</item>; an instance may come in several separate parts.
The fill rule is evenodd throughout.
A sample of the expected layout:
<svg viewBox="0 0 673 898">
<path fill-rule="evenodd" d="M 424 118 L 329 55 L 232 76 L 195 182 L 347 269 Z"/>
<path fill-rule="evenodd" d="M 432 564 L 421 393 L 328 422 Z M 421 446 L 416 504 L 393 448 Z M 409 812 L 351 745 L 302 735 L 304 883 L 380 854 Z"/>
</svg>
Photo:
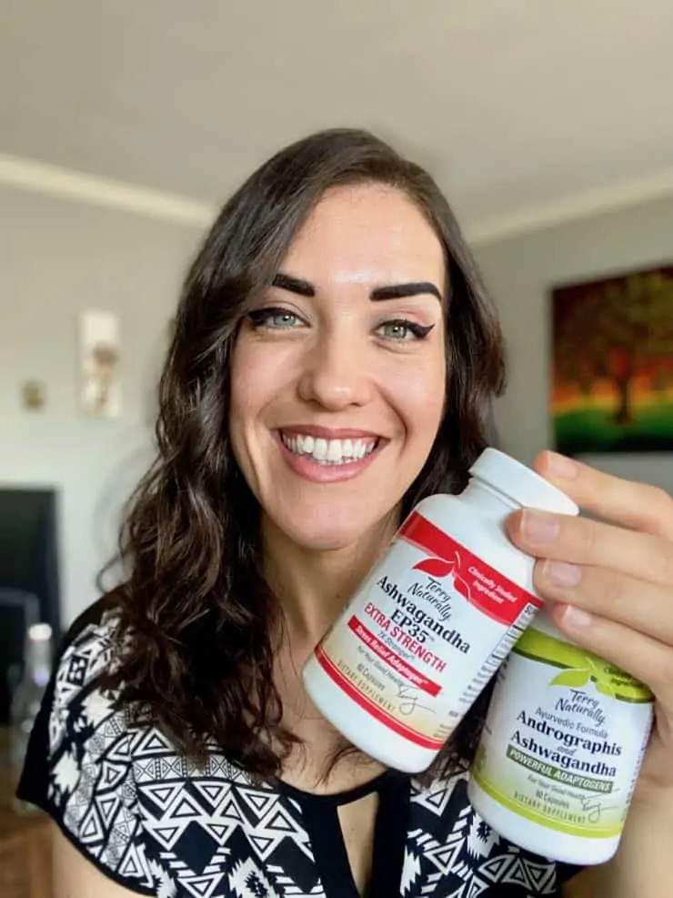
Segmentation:
<svg viewBox="0 0 673 898">
<path fill-rule="evenodd" d="M 673 712 L 673 651 L 670 646 L 634 632 L 618 621 L 608 621 L 571 605 L 551 603 L 549 611 L 559 630 L 571 640 L 644 682 L 667 710 L 667 715 Z"/>
</svg>

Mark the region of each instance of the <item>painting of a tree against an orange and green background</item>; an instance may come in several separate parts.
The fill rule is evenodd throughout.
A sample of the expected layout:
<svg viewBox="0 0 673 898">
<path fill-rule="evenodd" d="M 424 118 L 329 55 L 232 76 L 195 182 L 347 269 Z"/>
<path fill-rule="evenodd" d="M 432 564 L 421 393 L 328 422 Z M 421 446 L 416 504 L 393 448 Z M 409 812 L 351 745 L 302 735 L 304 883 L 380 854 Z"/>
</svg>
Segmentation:
<svg viewBox="0 0 673 898">
<path fill-rule="evenodd" d="M 551 298 L 558 451 L 673 451 L 673 265 Z"/>
</svg>

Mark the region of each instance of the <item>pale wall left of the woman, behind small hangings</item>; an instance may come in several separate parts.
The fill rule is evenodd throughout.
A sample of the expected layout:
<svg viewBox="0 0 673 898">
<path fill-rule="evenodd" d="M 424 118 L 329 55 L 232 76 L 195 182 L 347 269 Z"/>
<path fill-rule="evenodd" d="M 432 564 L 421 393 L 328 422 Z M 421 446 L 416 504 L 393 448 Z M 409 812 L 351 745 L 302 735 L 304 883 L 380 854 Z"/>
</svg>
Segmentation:
<svg viewBox="0 0 673 898">
<path fill-rule="evenodd" d="M 151 452 L 152 388 L 197 230 L 0 188 L 0 484 L 60 490 L 64 621 L 96 598 L 116 514 Z M 86 419 L 78 404 L 77 314 L 121 320 L 123 414 Z M 45 409 L 20 385 L 45 381 Z"/>
</svg>

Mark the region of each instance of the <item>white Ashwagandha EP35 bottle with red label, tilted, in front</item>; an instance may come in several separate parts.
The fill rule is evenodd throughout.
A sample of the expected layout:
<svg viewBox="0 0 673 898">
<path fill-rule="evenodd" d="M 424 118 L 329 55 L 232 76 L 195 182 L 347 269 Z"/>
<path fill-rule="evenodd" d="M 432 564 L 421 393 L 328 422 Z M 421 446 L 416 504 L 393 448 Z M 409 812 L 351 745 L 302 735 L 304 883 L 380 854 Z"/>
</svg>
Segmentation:
<svg viewBox="0 0 673 898">
<path fill-rule="evenodd" d="M 416 773 L 434 760 L 541 600 L 505 520 L 571 499 L 486 449 L 459 496 L 423 499 L 306 662 L 316 707 L 361 751 Z"/>
</svg>

